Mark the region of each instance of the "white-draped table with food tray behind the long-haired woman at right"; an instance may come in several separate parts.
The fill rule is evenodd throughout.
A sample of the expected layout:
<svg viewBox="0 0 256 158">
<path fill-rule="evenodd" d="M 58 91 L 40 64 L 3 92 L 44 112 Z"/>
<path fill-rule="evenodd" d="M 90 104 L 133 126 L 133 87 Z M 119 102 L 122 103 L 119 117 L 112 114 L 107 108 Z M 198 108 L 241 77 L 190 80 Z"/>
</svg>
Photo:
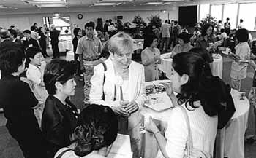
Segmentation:
<svg viewBox="0 0 256 158">
<path fill-rule="evenodd" d="M 170 81 L 157 80 L 154 82 L 146 82 L 146 86 L 152 84 L 159 84 L 159 82 Z M 220 157 L 244 158 L 244 134 L 249 114 L 249 101 L 247 98 L 245 98 L 244 100 L 240 100 L 240 92 L 238 92 L 237 90 L 231 90 L 231 95 L 236 106 L 236 112 L 228 125 L 225 127 L 225 129 L 222 130 L 222 133 L 219 133 L 217 135 L 217 148 L 219 150 L 217 150 L 216 154 L 217 157 L 218 155 L 222 155 Z M 143 116 L 152 116 L 154 122 L 157 123 L 157 126 L 160 127 L 160 130 L 162 131 L 162 133 L 164 133 L 165 129 L 167 128 L 167 121 L 170 116 L 170 111 L 173 109 L 173 106 L 166 92 L 163 92 L 161 95 L 156 94 L 156 96 L 162 96 L 164 104 L 170 103 L 169 107 L 166 107 L 166 110 L 158 111 L 154 106 L 153 109 L 144 105 L 141 113 L 143 114 Z M 157 151 L 158 146 L 154 135 L 151 133 L 143 134 L 142 157 L 156 157 Z"/>
</svg>

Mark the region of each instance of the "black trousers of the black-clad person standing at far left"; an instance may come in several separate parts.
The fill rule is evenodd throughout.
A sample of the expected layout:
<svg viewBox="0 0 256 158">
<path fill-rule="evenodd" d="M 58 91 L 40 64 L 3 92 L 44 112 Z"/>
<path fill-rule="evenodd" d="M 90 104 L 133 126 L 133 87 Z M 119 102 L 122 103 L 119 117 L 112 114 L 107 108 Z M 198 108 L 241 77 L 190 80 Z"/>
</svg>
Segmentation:
<svg viewBox="0 0 256 158">
<path fill-rule="evenodd" d="M 45 139 L 36 123 L 34 122 L 34 125 L 29 123 L 31 125 L 29 126 L 24 125 L 26 122 L 20 123 L 21 125 L 11 125 L 7 122 L 7 129 L 12 138 L 18 142 L 25 158 L 46 157 Z"/>
</svg>

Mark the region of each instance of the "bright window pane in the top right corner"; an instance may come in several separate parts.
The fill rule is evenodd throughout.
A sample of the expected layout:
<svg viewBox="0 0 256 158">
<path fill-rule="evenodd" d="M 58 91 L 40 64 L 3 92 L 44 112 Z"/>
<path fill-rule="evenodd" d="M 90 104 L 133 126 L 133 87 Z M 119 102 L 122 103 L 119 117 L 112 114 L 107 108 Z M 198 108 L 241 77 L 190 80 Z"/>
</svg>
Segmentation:
<svg viewBox="0 0 256 158">
<path fill-rule="evenodd" d="M 247 30 L 255 30 L 256 3 L 240 4 L 239 19 L 243 19 L 244 28 Z M 238 21 L 239 23 L 239 21 Z"/>
</svg>

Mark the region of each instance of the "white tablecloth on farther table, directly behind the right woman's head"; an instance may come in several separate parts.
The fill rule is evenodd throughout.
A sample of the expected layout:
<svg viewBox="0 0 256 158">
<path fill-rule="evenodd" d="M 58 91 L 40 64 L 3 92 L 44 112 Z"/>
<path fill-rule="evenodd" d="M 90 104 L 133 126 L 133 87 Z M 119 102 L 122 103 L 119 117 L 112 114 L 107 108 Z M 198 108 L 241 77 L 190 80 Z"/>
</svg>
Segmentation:
<svg viewBox="0 0 256 158">
<path fill-rule="evenodd" d="M 165 73 L 165 76 L 170 79 L 170 66 L 172 64 L 173 59 L 165 58 L 170 57 L 170 52 L 161 55 L 162 63 L 159 65 L 159 69 Z M 222 57 L 219 59 L 214 59 L 212 74 L 214 76 L 219 76 L 222 79 L 222 70 L 223 70 L 223 59 Z"/>
</svg>

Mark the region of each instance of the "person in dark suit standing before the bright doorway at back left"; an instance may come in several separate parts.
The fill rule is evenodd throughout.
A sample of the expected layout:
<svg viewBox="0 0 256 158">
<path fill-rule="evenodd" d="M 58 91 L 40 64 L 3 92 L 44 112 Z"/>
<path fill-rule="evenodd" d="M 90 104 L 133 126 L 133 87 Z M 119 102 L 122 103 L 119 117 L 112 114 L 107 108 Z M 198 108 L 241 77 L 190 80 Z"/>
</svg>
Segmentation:
<svg viewBox="0 0 256 158">
<path fill-rule="evenodd" d="M 53 49 L 53 58 L 59 58 L 59 33 L 60 31 L 56 30 L 55 25 L 50 25 L 52 29 L 50 31 L 50 44 Z"/>
</svg>

